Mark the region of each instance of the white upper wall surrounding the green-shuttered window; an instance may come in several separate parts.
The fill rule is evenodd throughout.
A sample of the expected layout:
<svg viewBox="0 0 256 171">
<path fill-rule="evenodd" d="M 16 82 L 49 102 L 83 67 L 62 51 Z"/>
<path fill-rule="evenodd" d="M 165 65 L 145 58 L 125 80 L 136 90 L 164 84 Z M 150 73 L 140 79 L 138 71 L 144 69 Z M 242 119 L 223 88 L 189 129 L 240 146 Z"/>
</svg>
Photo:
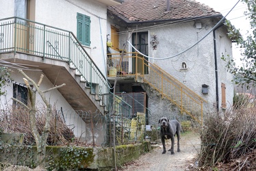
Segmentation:
<svg viewBox="0 0 256 171">
<path fill-rule="evenodd" d="M 93 0 L 36 1 L 36 21 L 72 31 L 77 36 L 77 12 L 90 16 L 90 47 L 84 47 L 105 73 L 107 6 Z M 101 40 L 102 38 L 102 40 Z"/>
</svg>

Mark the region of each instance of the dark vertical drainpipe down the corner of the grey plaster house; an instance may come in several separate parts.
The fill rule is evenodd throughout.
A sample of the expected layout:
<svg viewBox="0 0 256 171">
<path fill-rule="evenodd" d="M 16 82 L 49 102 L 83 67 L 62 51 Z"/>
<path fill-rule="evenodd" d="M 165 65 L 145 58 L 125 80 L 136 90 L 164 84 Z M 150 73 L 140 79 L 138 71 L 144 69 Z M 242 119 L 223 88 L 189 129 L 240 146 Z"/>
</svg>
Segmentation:
<svg viewBox="0 0 256 171">
<path fill-rule="evenodd" d="M 219 29 L 222 27 L 223 24 L 216 27 L 216 29 Z M 218 97 L 218 60 L 217 60 L 217 51 L 216 51 L 216 34 L 214 29 L 214 62 L 215 62 L 215 80 L 216 80 L 216 109 L 219 111 L 219 97 Z"/>
</svg>

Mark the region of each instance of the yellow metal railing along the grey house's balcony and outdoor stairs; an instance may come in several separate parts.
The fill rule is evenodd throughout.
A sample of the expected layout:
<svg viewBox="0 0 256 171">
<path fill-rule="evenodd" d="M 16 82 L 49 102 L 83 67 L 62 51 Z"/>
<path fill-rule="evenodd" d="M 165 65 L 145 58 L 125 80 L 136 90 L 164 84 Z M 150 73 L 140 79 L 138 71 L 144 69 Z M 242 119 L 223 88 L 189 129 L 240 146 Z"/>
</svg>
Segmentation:
<svg viewBox="0 0 256 171">
<path fill-rule="evenodd" d="M 159 66 L 151 64 L 139 53 L 111 53 L 108 56 L 108 77 L 134 77 L 143 80 L 157 90 L 162 98 L 167 98 L 177 107 L 181 114 L 188 114 L 196 122 L 203 124 L 203 103 L 205 100 L 184 86 L 177 79 L 166 73 Z M 120 60 L 122 59 L 122 60 Z"/>
</svg>

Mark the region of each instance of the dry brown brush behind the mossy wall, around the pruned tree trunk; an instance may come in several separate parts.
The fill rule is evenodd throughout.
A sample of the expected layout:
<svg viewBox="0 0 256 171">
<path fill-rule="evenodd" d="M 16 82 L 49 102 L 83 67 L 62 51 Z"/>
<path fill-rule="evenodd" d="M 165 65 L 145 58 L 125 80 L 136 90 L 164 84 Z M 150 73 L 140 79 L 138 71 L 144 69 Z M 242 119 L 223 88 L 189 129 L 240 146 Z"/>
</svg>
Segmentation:
<svg viewBox="0 0 256 171">
<path fill-rule="evenodd" d="M 10 109 L 8 111 L 0 111 L 0 128 L 7 133 L 23 133 L 25 145 L 35 145 L 33 134 L 30 128 L 29 112 L 23 108 Z M 73 131 L 69 129 L 61 114 L 53 110 L 51 119 L 51 130 L 47 139 L 48 145 L 63 145 L 75 140 Z M 37 112 L 36 124 L 38 132 L 42 133 L 45 124 L 44 109 Z"/>
</svg>

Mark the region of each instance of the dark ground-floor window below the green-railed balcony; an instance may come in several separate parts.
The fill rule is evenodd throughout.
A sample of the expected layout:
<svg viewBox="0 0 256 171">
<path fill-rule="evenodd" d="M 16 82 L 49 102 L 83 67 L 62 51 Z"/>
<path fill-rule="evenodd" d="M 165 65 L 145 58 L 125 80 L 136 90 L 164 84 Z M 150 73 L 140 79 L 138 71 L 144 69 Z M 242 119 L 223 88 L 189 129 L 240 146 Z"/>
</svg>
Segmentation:
<svg viewBox="0 0 256 171">
<path fill-rule="evenodd" d="M 27 87 L 14 83 L 13 97 L 27 105 Z M 16 101 L 14 101 L 14 105 L 17 105 Z"/>
</svg>

